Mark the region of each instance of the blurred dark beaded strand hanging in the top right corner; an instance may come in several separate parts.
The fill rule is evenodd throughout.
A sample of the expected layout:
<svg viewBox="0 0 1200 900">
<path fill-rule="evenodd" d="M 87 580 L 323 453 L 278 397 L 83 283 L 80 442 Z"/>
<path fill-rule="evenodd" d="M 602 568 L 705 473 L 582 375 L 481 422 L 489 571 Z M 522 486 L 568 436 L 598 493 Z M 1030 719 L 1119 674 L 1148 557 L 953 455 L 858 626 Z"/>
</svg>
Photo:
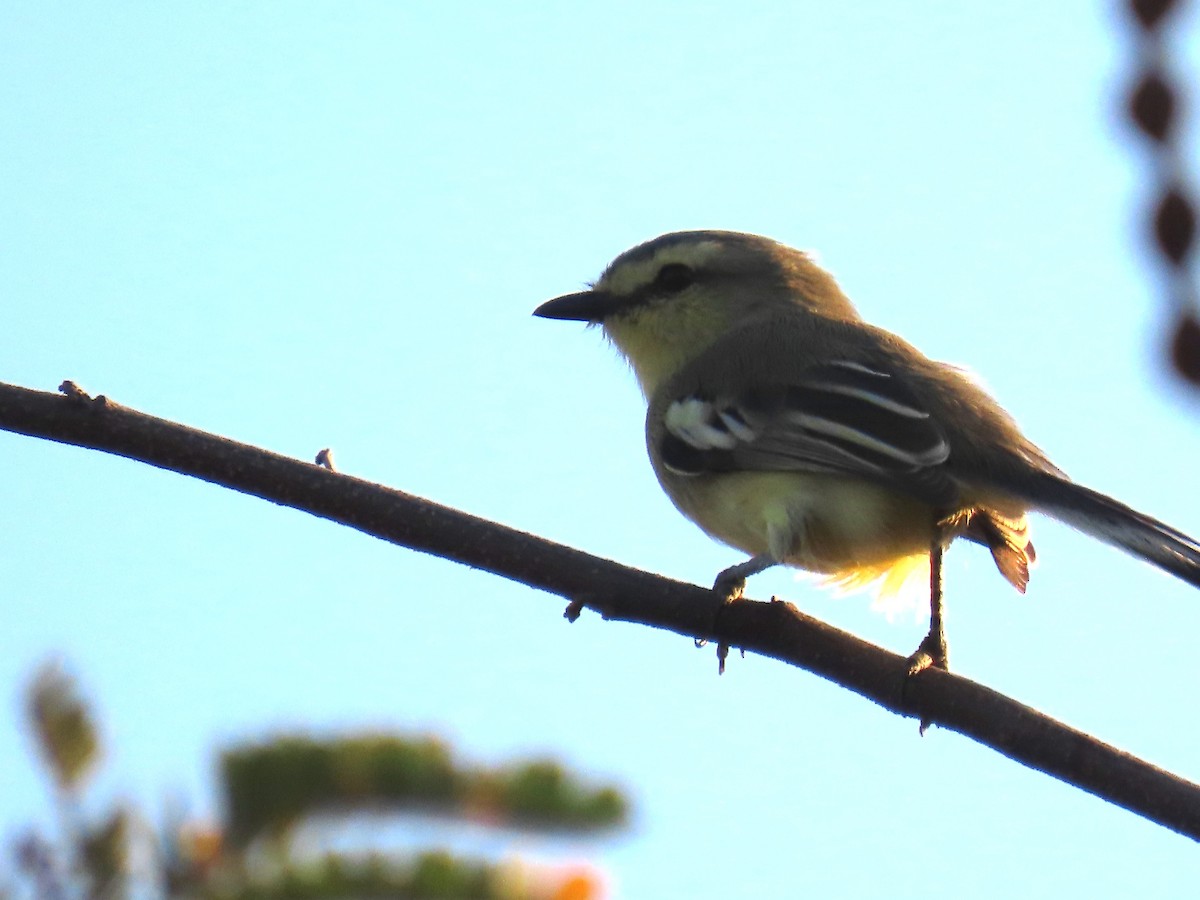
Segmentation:
<svg viewBox="0 0 1200 900">
<path fill-rule="evenodd" d="M 1200 301 L 1192 268 L 1196 214 L 1193 179 L 1180 146 L 1183 132 L 1180 89 L 1172 82 L 1168 25 L 1180 0 L 1129 0 L 1138 34 L 1139 74 L 1129 92 L 1128 113 L 1150 143 L 1150 176 L 1154 181 L 1150 233 L 1162 260 L 1168 314 L 1171 319 L 1171 365 L 1193 388 L 1200 386 Z M 1178 22 L 1178 18 L 1175 18 Z"/>
</svg>

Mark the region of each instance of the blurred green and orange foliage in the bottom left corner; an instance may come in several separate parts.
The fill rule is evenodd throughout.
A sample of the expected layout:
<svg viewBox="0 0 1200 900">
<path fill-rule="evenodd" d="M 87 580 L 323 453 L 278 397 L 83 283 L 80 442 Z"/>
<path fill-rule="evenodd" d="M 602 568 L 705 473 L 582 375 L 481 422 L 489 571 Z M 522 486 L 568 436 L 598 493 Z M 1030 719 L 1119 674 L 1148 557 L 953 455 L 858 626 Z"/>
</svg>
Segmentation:
<svg viewBox="0 0 1200 900">
<path fill-rule="evenodd" d="M 157 863 L 154 874 L 142 872 L 140 887 L 180 900 L 593 900 L 604 884 L 590 868 L 539 871 L 444 851 L 296 859 L 288 839 L 301 820 L 323 814 L 432 812 L 545 832 L 612 828 L 629 815 L 616 787 L 584 785 L 553 760 L 488 768 L 461 763 L 431 737 L 284 736 L 222 754 L 224 822 L 180 821 L 154 841 L 131 810 L 82 815 L 83 785 L 101 745 L 61 666 L 38 671 L 26 709 L 61 800 L 58 840 L 31 829 L 14 844 L 18 874 L 43 900 L 143 895 L 131 875 L 137 846 L 139 858 Z M 265 840 L 247 852 L 256 839 Z"/>
</svg>

